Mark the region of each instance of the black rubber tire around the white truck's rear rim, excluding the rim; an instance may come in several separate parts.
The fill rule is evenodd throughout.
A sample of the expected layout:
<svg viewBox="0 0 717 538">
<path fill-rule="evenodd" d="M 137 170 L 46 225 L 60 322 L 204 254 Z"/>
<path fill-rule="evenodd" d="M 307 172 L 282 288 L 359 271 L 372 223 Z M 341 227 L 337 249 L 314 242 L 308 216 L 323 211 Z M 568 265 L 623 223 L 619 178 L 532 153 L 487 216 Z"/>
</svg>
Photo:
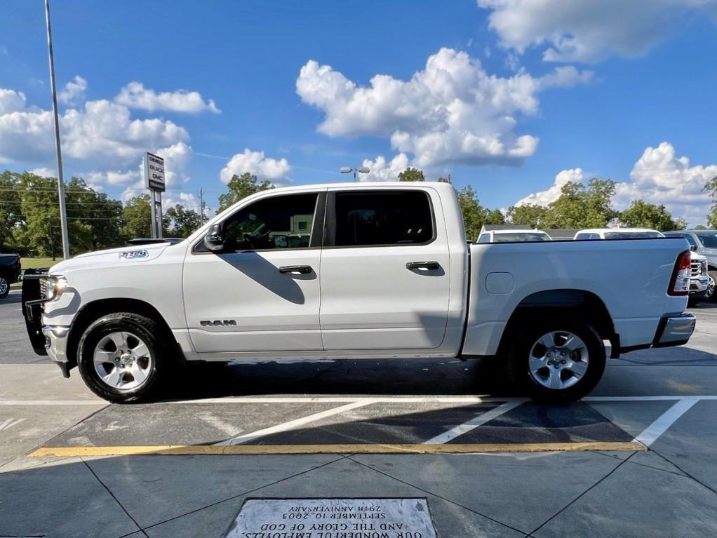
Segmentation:
<svg viewBox="0 0 717 538">
<path fill-rule="evenodd" d="M 589 360 L 587 370 L 581 379 L 571 387 L 556 390 L 544 387 L 533 379 L 528 367 L 528 359 L 533 345 L 541 336 L 561 331 L 572 333 L 584 342 Z M 529 324 L 508 351 L 508 375 L 521 395 L 527 395 L 537 402 L 565 404 L 579 400 L 595 388 L 602 378 L 605 359 L 605 346 L 602 344 L 602 339 L 589 324 L 559 319 L 538 321 Z"/>
</svg>

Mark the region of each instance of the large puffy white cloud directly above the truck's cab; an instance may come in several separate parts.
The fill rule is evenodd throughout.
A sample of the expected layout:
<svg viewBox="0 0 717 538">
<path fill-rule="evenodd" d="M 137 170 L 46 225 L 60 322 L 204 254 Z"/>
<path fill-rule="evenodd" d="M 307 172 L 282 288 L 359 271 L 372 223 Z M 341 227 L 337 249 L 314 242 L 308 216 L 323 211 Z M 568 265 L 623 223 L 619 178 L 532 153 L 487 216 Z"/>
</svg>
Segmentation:
<svg viewBox="0 0 717 538">
<path fill-rule="evenodd" d="M 537 93 L 591 76 L 571 68 L 542 78 L 523 70 L 496 77 L 480 60 L 443 48 L 410 80 L 375 75 L 369 87 L 310 60 L 300 70 L 296 91 L 325 114 L 320 132 L 389 137 L 394 149 L 413 154 L 421 168 L 448 162 L 518 164 L 538 145 L 538 138 L 516 132 L 521 115 L 537 113 Z"/>
</svg>

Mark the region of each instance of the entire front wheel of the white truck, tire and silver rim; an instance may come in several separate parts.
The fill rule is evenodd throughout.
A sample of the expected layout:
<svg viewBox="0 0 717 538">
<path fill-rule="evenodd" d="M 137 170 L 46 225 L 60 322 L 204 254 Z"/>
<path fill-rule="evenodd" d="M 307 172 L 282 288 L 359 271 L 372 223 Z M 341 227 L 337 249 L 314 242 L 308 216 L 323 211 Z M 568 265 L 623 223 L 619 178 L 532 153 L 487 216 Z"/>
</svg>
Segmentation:
<svg viewBox="0 0 717 538">
<path fill-rule="evenodd" d="M 166 350 L 173 349 L 156 321 L 136 313 L 100 317 L 82 334 L 78 366 L 87 387 L 115 403 L 152 400 L 160 392 Z"/>
</svg>

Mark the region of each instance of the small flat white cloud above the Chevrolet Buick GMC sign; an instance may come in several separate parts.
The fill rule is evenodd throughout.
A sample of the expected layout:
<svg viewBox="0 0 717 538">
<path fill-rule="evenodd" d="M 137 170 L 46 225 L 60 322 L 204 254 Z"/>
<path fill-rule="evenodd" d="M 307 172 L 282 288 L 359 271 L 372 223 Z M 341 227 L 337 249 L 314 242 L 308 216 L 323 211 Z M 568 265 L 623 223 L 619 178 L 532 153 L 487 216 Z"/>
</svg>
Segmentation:
<svg viewBox="0 0 717 538">
<path fill-rule="evenodd" d="M 204 100 L 199 92 L 176 90 L 174 92 L 160 92 L 145 88 L 142 82 L 130 82 L 120 90 L 115 97 L 115 103 L 128 108 L 141 108 L 153 112 L 155 110 L 170 110 L 171 112 L 185 112 L 196 114 L 200 112 L 221 112 L 214 100 Z"/>
</svg>

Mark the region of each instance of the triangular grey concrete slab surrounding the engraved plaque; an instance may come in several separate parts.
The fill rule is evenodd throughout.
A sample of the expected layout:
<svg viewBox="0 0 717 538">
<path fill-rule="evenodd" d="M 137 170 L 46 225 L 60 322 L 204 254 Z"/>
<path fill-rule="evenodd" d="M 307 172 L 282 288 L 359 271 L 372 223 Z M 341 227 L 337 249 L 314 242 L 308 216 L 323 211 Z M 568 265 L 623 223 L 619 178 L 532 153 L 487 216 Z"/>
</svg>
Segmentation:
<svg viewBox="0 0 717 538">
<path fill-rule="evenodd" d="M 337 461 L 252 492 L 252 498 L 286 497 L 425 497 L 441 538 L 491 537 L 518 538 L 522 532 L 510 529 L 475 512 L 424 493 L 412 486 L 384 476 L 348 459 Z M 232 499 L 146 529 L 151 538 L 222 536 L 239 512 L 244 497 Z"/>
</svg>

